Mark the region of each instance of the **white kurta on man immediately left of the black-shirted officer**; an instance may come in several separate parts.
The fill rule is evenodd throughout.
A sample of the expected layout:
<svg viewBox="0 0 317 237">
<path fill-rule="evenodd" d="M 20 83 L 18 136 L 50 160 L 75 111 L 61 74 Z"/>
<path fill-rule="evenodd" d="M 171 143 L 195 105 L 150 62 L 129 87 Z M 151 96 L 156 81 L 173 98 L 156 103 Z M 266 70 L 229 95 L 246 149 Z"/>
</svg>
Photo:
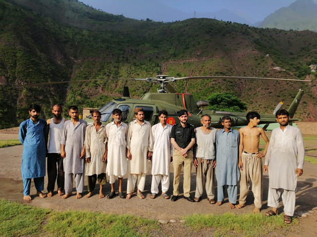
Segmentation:
<svg viewBox="0 0 317 237">
<path fill-rule="evenodd" d="M 170 142 L 170 132 L 172 126 L 166 124 L 165 127 L 158 123 L 152 127 L 152 137 L 154 142 L 152 158 L 152 174 L 169 175 L 170 158 L 173 156 L 172 144 Z"/>
</svg>

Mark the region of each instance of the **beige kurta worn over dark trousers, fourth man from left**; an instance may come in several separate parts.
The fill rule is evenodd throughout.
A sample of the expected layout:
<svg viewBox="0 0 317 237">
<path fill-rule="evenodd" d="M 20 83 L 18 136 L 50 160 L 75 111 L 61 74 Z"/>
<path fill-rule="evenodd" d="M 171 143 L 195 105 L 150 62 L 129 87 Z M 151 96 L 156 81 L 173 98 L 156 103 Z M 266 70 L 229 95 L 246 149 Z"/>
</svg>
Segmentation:
<svg viewBox="0 0 317 237">
<path fill-rule="evenodd" d="M 86 128 L 86 158 L 91 158 L 90 162 L 86 162 L 85 174 L 88 176 L 94 174 L 106 173 L 106 162 L 103 162 L 106 153 L 106 127 L 101 125 L 99 131 L 93 124 L 89 124 Z"/>
</svg>

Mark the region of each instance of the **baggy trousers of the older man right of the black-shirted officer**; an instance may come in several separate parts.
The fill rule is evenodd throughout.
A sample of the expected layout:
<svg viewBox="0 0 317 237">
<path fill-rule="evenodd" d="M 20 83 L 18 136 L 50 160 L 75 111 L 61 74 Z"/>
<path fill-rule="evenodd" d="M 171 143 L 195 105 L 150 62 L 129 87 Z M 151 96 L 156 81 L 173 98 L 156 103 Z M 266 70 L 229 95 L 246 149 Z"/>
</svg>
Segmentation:
<svg viewBox="0 0 317 237">
<path fill-rule="evenodd" d="M 203 163 L 202 163 L 203 161 Z M 207 163 L 209 161 L 209 163 Z M 208 198 L 214 198 L 214 159 L 197 158 L 198 167 L 196 168 L 196 192 L 195 197 L 200 198 L 204 193 L 204 185 Z"/>
</svg>

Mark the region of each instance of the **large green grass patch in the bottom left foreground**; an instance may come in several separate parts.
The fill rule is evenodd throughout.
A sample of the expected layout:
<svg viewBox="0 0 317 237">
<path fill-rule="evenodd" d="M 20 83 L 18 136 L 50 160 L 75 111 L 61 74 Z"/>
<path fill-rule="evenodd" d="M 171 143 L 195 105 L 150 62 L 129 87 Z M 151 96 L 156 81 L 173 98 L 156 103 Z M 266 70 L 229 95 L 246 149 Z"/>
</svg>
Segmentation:
<svg viewBox="0 0 317 237">
<path fill-rule="evenodd" d="M 52 211 L 0 200 L 0 236 L 149 236 L 159 222 L 131 215 Z"/>
</svg>

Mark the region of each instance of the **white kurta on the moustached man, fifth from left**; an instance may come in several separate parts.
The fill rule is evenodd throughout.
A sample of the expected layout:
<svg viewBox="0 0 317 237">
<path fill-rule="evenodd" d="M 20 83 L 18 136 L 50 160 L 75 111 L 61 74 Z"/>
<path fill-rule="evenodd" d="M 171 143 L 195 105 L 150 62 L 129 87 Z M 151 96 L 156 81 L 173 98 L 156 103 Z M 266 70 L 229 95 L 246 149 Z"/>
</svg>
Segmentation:
<svg viewBox="0 0 317 237">
<path fill-rule="evenodd" d="M 106 125 L 106 136 L 108 143 L 107 175 L 124 176 L 127 172 L 126 160 L 126 136 L 128 125 L 121 122 L 116 125 L 114 122 Z"/>
</svg>

